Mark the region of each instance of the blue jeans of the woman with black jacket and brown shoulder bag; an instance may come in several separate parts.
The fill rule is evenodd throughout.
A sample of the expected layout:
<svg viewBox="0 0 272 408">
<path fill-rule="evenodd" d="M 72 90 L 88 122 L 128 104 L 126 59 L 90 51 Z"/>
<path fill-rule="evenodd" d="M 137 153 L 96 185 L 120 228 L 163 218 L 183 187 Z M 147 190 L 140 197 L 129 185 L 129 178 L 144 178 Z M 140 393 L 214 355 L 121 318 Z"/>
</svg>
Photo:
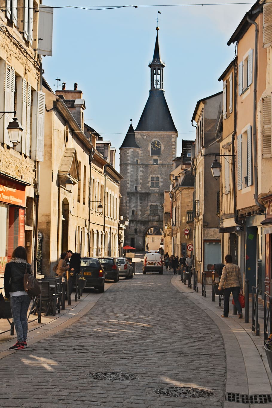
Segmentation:
<svg viewBox="0 0 272 408">
<path fill-rule="evenodd" d="M 11 296 L 10 305 L 13 316 L 13 322 L 17 333 L 17 340 L 27 340 L 27 310 L 30 304 L 29 296 Z"/>
</svg>

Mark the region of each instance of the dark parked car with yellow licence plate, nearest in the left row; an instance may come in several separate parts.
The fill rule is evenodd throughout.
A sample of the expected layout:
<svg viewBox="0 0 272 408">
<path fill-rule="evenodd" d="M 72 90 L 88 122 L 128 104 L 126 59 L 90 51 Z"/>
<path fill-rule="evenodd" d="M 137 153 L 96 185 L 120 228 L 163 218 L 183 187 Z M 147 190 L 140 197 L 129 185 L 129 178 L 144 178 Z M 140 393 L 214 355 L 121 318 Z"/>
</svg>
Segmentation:
<svg viewBox="0 0 272 408">
<path fill-rule="evenodd" d="M 80 260 L 80 272 L 87 279 L 86 288 L 98 289 L 98 292 L 104 292 L 105 271 L 98 258 L 82 257 Z"/>
</svg>

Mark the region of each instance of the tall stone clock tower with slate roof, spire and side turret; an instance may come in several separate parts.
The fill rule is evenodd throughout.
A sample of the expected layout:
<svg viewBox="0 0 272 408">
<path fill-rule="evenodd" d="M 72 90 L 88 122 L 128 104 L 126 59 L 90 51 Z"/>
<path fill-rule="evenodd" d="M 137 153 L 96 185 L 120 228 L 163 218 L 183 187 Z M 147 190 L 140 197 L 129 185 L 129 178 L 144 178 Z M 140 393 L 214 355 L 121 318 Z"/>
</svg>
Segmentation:
<svg viewBox="0 0 272 408">
<path fill-rule="evenodd" d="M 164 96 L 164 63 L 157 37 L 150 67 L 150 91 L 144 111 L 120 147 L 120 214 L 129 219 L 124 245 L 145 249 L 150 228 L 164 230 L 164 191 L 169 190 L 172 160 L 176 157 L 177 129 Z M 131 122 L 131 120 L 130 120 Z M 151 230 L 152 231 L 152 230 Z"/>
</svg>

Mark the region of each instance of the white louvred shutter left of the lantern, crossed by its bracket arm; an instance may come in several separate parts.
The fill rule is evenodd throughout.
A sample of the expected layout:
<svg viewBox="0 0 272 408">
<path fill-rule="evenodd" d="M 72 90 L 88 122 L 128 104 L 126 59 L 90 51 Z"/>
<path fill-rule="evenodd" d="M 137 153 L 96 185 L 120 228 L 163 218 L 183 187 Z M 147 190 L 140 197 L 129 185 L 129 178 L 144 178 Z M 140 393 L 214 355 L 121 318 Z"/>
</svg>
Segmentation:
<svg viewBox="0 0 272 408">
<path fill-rule="evenodd" d="M 6 64 L 6 74 L 5 74 L 5 94 L 4 94 L 4 111 L 14 111 L 14 85 L 15 85 L 15 71 Z M 9 115 L 4 115 L 4 143 L 8 146 L 13 146 L 9 140 L 9 133 L 7 131 L 7 126 L 12 120 L 12 113 Z"/>
</svg>

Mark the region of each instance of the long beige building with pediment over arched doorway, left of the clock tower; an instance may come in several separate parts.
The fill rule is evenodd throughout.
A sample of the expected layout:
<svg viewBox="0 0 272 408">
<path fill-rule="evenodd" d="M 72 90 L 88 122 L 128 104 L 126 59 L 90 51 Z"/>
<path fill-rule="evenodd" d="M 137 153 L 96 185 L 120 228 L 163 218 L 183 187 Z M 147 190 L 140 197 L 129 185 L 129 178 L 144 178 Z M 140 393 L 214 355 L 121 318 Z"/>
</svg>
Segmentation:
<svg viewBox="0 0 272 408">
<path fill-rule="evenodd" d="M 82 92 L 53 91 L 46 98 L 44 162 L 40 169 L 39 232 L 42 273 L 50 275 L 60 254 L 118 254 L 119 180 L 115 149 L 84 125 Z"/>
</svg>

